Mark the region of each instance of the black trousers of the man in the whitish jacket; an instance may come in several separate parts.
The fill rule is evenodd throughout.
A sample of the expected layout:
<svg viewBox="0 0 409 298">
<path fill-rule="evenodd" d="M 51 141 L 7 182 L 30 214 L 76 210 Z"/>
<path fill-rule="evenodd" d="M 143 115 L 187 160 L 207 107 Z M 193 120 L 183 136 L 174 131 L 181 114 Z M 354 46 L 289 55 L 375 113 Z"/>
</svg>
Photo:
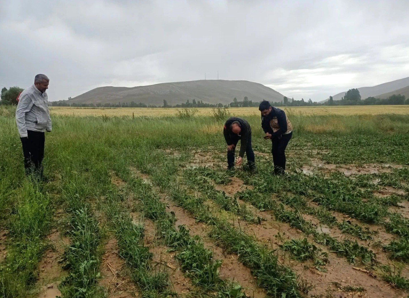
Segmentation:
<svg viewBox="0 0 409 298">
<path fill-rule="evenodd" d="M 28 138 L 20 138 L 24 154 L 24 168 L 27 175 L 36 174 L 43 177 L 45 133 L 27 131 Z"/>
</svg>

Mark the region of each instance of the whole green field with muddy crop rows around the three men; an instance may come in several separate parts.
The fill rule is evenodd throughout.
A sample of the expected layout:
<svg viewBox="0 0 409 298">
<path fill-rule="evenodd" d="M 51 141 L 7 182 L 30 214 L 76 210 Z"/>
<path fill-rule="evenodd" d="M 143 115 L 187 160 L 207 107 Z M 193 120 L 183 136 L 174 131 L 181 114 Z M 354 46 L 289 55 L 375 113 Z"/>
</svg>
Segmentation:
<svg viewBox="0 0 409 298">
<path fill-rule="evenodd" d="M 0 107 L 0 296 L 406 297 L 408 110 L 362 108 L 289 113 L 285 176 L 254 108 L 256 174 L 209 110 L 52 108 L 35 183 Z"/>
</svg>

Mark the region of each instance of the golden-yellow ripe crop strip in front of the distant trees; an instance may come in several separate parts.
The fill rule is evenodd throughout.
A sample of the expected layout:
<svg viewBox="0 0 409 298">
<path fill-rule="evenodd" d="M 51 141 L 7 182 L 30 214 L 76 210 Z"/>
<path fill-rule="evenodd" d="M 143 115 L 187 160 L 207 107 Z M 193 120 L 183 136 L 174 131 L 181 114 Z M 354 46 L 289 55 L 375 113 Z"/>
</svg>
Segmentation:
<svg viewBox="0 0 409 298">
<path fill-rule="evenodd" d="M 290 114 L 302 115 L 409 115 L 409 105 L 404 106 L 301 106 L 283 107 Z M 259 115 L 258 108 L 229 108 L 231 115 Z M 72 108 L 51 107 L 52 115 L 67 116 L 165 116 L 176 115 L 177 108 Z M 198 108 L 197 115 L 211 115 L 211 108 Z"/>
</svg>

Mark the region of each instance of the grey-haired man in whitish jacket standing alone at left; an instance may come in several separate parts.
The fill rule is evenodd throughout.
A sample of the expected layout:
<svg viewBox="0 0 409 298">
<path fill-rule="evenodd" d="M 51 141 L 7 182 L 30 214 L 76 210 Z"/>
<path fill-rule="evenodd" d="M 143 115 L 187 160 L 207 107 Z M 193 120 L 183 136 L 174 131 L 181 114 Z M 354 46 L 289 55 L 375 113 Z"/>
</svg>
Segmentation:
<svg viewBox="0 0 409 298">
<path fill-rule="evenodd" d="M 24 167 L 27 175 L 35 174 L 43 178 L 45 131 L 51 131 L 48 108 L 49 79 L 45 74 L 37 74 L 34 84 L 26 88 L 19 97 L 16 123 L 23 147 Z"/>
</svg>

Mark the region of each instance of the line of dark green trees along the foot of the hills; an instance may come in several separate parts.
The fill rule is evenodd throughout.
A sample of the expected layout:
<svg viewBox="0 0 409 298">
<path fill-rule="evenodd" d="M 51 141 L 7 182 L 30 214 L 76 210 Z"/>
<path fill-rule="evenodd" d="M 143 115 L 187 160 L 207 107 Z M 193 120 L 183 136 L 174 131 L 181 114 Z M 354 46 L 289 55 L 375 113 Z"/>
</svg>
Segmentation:
<svg viewBox="0 0 409 298">
<path fill-rule="evenodd" d="M 0 104 L 7 105 L 16 105 L 18 95 L 23 91 L 22 88 L 18 86 L 6 87 L 1 90 L 1 100 Z M 204 103 L 203 100 L 189 99 L 182 104 L 171 105 L 168 104 L 166 99 L 163 100 L 162 106 L 157 106 L 154 104 L 143 104 L 141 102 L 118 102 L 115 104 L 106 103 L 106 104 L 84 104 L 84 103 L 75 103 L 70 102 L 71 97 L 68 97 L 68 100 L 60 100 L 56 102 L 49 102 L 50 106 L 72 106 L 72 107 L 90 107 L 90 108 L 240 108 L 240 107 L 258 107 L 260 102 L 253 102 L 249 100 L 247 96 L 243 100 L 239 101 L 234 97 L 233 101 L 229 104 L 208 104 Z M 376 97 L 367 97 L 365 99 L 361 98 L 360 92 L 358 89 L 353 88 L 349 89 L 341 100 L 334 100 L 332 96 L 326 102 L 318 103 L 313 102 L 311 99 L 308 101 L 294 100 L 294 98 L 289 99 L 284 96 L 281 102 L 270 102 L 272 106 L 354 106 L 354 105 L 399 105 L 399 104 L 409 104 L 409 98 L 406 99 L 405 95 L 394 94 L 385 99 L 380 99 Z"/>
</svg>

